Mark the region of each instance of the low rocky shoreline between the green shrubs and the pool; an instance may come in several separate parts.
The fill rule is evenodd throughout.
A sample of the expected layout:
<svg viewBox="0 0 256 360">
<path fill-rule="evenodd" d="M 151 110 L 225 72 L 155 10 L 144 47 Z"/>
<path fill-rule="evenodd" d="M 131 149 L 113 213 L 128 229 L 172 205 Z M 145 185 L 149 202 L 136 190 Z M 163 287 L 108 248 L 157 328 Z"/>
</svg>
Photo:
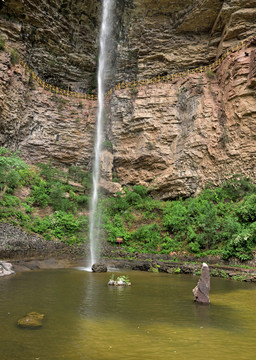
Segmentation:
<svg viewBox="0 0 256 360">
<path fill-rule="evenodd" d="M 85 266 L 88 246 L 70 246 L 61 241 L 46 241 L 37 234 L 27 234 L 11 224 L 0 223 L 0 261 L 11 262 L 17 272 Z M 206 262 L 211 276 L 256 282 L 256 259 L 239 263 L 219 256 L 196 258 L 191 254 L 130 254 L 105 245 L 102 263 L 108 268 L 199 275 Z"/>
</svg>

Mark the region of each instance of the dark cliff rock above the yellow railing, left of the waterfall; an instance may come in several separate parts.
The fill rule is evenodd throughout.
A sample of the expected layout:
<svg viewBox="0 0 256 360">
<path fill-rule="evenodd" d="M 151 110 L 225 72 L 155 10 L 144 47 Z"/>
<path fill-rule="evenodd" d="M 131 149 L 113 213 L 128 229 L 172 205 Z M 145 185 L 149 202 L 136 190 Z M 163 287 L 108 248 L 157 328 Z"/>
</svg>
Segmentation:
<svg viewBox="0 0 256 360">
<path fill-rule="evenodd" d="M 1 1 L 0 32 L 45 81 L 95 87 L 100 0 Z"/>
</svg>

